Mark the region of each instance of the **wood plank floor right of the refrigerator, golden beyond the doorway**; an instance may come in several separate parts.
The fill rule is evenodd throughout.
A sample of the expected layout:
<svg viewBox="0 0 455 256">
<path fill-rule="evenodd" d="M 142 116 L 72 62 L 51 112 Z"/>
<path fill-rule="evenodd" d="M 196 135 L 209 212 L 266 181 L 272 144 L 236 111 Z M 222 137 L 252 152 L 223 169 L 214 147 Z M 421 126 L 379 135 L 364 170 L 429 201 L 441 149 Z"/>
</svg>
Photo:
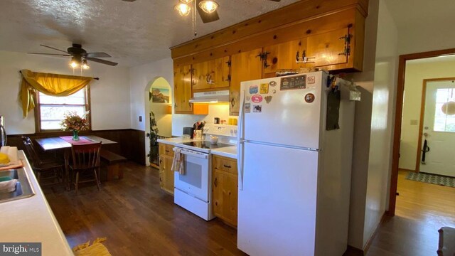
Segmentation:
<svg viewBox="0 0 455 256">
<path fill-rule="evenodd" d="M 385 218 L 368 256 L 437 255 L 437 230 L 455 227 L 455 188 L 410 181 L 406 174 L 398 174 L 395 217 Z"/>
</svg>

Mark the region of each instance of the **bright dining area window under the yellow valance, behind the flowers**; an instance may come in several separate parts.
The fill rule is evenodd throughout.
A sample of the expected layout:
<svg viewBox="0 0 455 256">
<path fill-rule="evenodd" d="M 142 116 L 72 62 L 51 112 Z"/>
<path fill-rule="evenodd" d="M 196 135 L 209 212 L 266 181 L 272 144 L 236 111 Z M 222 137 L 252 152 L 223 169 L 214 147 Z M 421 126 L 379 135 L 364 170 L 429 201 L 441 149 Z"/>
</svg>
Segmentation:
<svg viewBox="0 0 455 256">
<path fill-rule="evenodd" d="M 60 122 L 63 119 L 63 115 L 68 111 L 74 111 L 80 116 L 90 111 L 88 95 L 90 95 L 88 87 L 84 87 L 84 89 L 75 94 L 65 97 L 49 96 L 43 92 L 37 92 L 35 107 L 37 131 L 50 132 L 60 130 Z"/>
</svg>

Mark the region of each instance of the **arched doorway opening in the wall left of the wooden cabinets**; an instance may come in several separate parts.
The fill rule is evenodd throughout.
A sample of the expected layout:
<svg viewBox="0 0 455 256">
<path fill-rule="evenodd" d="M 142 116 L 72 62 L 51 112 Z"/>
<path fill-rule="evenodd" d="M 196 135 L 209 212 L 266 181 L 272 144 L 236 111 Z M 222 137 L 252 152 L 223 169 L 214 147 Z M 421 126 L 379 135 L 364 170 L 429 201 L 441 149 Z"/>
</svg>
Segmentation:
<svg viewBox="0 0 455 256">
<path fill-rule="evenodd" d="M 146 166 L 159 166 L 156 139 L 172 135 L 172 87 L 162 77 L 156 77 L 145 88 Z"/>
</svg>

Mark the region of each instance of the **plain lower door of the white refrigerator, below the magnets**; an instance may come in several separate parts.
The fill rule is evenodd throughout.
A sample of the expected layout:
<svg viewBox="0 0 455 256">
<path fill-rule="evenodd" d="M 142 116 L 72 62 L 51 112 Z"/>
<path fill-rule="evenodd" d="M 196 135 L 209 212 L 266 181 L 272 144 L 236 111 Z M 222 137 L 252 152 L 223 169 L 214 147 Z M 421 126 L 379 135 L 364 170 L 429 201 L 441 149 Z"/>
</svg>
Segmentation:
<svg viewBox="0 0 455 256">
<path fill-rule="evenodd" d="M 244 143 L 237 247 L 248 255 L 314 255 L 319 152 Z"/>
</svg>

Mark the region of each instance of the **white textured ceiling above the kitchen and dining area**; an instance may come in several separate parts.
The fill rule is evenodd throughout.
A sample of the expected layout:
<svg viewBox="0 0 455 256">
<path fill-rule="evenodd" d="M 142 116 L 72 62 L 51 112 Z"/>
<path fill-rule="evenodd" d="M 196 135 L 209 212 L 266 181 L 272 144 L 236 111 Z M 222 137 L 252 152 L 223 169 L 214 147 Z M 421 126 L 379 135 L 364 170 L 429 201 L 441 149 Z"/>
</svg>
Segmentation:
<svg viewBox="0 0 455 256">
<path fill-rule="evenodd" d="M 259 16 L 298 0 L 217 0 L 220 20 L 202 23 L 198 36 Z M 0 0 L 0 50 L 59 53 L 82 43 L 88 52 L 105 52 L 122 66 L 169 57 L 169 47 L 190 41 L 191 16 L 181 17 L 178 0 Z M 58 58 L 58 57 L 49 57 Z"/>
</svg>

